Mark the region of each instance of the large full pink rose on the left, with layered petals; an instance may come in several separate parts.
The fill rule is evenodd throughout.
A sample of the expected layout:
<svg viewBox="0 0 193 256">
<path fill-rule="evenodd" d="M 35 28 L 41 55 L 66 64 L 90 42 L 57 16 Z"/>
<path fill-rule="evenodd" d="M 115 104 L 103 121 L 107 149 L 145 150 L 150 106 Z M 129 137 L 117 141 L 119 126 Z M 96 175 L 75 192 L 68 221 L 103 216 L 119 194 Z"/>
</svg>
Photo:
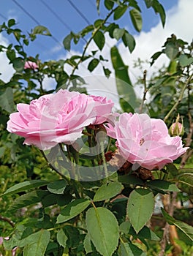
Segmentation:
<svg viewBox="0 0 193 256">
<path fill-rule="evenodd" d="M 96 121 L 92 97 L 75 91 L 60 90 L 18 104 L 18 112 L 10 115 L 7 130 L 23 136 L 24 143 L 45 150 L 57 143 L 72 144 L 80 138 L 83 128 Z"/>
</svg>

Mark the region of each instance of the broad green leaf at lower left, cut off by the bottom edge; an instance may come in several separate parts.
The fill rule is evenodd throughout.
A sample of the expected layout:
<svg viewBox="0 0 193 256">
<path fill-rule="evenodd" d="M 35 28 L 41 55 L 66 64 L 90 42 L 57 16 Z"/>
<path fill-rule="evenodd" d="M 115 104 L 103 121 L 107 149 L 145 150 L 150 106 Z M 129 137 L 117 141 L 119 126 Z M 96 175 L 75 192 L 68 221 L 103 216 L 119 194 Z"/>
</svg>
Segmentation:
<svg viewBox="0 0 193 256">
<path fill-rule="evenodd" d="M 24 238 L 20 244 L 20 246 L 24 245 L 23 256 L 44 256 L 49 241 L 48 230 L 40 230 Z"/>
</svg>

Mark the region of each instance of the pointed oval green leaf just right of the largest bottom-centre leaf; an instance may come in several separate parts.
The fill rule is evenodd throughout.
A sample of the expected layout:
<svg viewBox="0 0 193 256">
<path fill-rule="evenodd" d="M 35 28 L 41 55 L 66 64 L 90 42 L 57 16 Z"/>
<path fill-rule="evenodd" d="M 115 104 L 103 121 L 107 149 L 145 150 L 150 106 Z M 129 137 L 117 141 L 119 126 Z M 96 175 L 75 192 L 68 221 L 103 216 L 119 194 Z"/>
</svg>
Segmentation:
<svg viewBox="0 0 193 256">
<path fill-rule="evenodd" d="M 131 192 L 127 204 L 129 220 L 138 233 L 151 218 L 154 211 L 154 194 L 149 189 L 135 189 Z"/>
</svg>

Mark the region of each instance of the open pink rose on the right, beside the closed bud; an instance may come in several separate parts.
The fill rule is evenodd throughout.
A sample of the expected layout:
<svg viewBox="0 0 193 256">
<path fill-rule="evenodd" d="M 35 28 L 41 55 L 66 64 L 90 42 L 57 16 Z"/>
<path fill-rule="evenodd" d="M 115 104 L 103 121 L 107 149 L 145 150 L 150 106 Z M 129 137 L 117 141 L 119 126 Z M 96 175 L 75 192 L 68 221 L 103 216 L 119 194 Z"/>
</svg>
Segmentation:
<svg viewBox="0 0 193 256">
<path fill-rule="evenodd" d="M 161 169 L 187 150 L 180 137 L 170 137 L 164 121 L 147 114 L 121 114 L 107 135 L 116 138 L 120 154 L 136 168 Z"/>
</svg>

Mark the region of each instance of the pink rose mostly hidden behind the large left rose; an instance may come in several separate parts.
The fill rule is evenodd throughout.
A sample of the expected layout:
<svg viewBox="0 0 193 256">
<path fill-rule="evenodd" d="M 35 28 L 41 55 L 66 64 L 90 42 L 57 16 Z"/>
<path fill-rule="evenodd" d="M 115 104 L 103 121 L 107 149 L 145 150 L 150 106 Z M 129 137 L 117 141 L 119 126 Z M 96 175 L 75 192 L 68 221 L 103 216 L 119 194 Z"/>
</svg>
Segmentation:
<svg viewBox="0 0 193 256">
<path fill-rule="evenodd" d="M 96 121 L 94 124 L 102 124 L 107 121 L 108 116 L 111 113 L 114 103 L 111 99 L 100 96 L 90 96 L 95 102 Z"/>
</svg>

